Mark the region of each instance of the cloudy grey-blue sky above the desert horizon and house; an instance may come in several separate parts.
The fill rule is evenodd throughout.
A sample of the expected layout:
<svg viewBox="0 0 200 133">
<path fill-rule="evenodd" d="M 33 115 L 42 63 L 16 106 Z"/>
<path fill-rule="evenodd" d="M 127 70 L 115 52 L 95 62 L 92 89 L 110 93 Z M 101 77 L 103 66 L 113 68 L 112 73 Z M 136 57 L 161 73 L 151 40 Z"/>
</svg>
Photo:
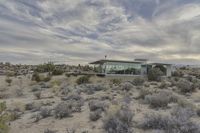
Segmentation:
<svg viewBox="0 0 200 133">
<path fill-rule="evenodd" d="M 0 62 L 200 64 L 200 0 L 0 0 Z"/>
</svg>

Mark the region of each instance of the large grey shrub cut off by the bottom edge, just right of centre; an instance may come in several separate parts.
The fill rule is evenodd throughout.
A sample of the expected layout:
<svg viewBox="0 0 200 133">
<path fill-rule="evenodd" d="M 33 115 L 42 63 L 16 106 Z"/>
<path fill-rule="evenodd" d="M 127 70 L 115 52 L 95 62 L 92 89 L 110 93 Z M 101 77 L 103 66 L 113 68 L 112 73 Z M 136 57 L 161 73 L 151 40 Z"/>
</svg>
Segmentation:
<svg viewBox="0 0 200 133">
<path fill-rule="evenodd" d="M 132 133 L 133 113 L 127 107 L 114 114 L 110 114 L 103 121 L 103 128 L 107 133 Z"/>
</svg>

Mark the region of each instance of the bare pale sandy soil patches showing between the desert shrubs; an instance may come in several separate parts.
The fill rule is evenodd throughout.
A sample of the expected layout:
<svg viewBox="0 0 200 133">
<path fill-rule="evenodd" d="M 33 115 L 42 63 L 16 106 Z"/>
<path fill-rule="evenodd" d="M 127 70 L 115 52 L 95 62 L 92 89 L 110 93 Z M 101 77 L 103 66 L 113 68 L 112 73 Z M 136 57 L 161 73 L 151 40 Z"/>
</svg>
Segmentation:
<svg viewBox="0 0 200 133">
<path fill-rule="evenodd" d="M 31 92 L 31 86 L 37 85 L 38 83 L 32 82 L 28 76 L 24 77 L 13 77 L 11 86 L 8 86 L 5 82 L 5 76 L 0 76 L 0 90 L 1 93 L 7 94 L 8 98 L 0 99 L 0 102 L 6 101 L 8 110 L 18 109 L 22 112 L 19 119 L 10 122 L 10 133 L 44 133 L 45 129 L 56 130 L 57 133 L 66 133 L 66 129 L 76 129 L 77 133 L 82 133 L 84 131 L 88 131 L 88 133 L 102 133 L 105 132 L 102 128 L 104 117 L 100 118 L 96 122 L 93 122 L 89 119 L 89 107 L 88 102 L 90 99 L 100 99 L 103 96 L 108 96 L 111 99 L 105 100 L 109 103 L 109 105 L 113 104 L 114 102 L 123 103 L 124 97 L 127 94 L 131 93 L 130 104 L 129 107 L 135 114 L 134 116 L 134 123 L 140 123 L 144 119 L 144 115 L 149 112 L 165 112 L 169 113 L 171 110 L 170 107 L 173 107 L 174 104 L 169 104 L 168 109 L 152 109 L 149 107 L 148 104 L 144 104 L 143 101 L 138 100 L 137 97 L 139 95 L 139 89 L 136 86 L 133 86 L 131 91 L 124 92 L 118 90 L 119 86 L 110 85 L 110 80 L 115 77 L 109 78 L 99 78 L 93 77 L 91 78 L 92 84 L 104 84 L 107 85 L 108 89 L 103 91 L 95 92 L 92 95 L 88 95 L 85 93 L 81 93 L 80 95 L 84 98 L 84 105 L 81 107 L 81 112 L 73 113 L 71 117 L 63 118 L 63 119 L 55 119 L 55 117 L 47 117 L 44 119 L 39 120 L 38 122 L 34 122 L 32 116 L 37 114 L 38 112 L 33 112 L 29 110 L 25 110 L 25 105 L 27 103 L 35 103 L 42 107 L 49 107 L 55 108 L 58 103 L 61 102 L 61 96 L 59 93 L 54 92 L 53 88 L 57 86 L 60 88 L 62 84 L 67 84 L 68 86 L 75 87 L 76 79 L 78 77 L 65 77 L 65 76 L 54 76 L 50 84 L 58 83 L 59 85 L 52 85 L 48 89 L 42 90 L 41 99 L 37 100 Z M 123 78 L 122 82 L 131 81 L 132 78 Z M 148 84 L 146 87 L 143 85 L 142 88 L 148 88 L 151 90 L 158 91 L 160 90 L 159 85 L 160 83 L 145 83 Z M 79 86 L 78 86 L 79 87 Z M 110 87 L 110 88 L 109 88 Z M 15 90 L 21 89 L 23 92 L 23 96 L 16 96 Z M 195 106 L 200 107 L 200 90 L 190 94 L 189 96 L 185 97 L 185 99 L 189 100 L 190 102 L 194 103 Z M 103 113 L 103 116 L 105 114 Z M 197 121 L 200 122 L 200 119 L 197 118 Z M 133 127 L 136 133 L 149 133 L 152 130 L 142 130 L 139 129 L 137 126 Z"/>
</svg>

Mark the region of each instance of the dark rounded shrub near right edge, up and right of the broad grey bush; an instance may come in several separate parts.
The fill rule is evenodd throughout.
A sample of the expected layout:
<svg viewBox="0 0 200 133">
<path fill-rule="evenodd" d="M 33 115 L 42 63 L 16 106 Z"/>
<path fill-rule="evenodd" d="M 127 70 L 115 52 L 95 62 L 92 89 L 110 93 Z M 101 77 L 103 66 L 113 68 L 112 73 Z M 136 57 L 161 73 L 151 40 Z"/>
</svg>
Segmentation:
<svg viewBox="0 0 200 133">
<path fill-rule="evenodd" d="M 195 88 L 192 87 L 191 82 L 184 79 L 178 81 L 177 87 L 180 89 L 182 93 L 189 93 L 195 90 Z"/>
</svg>

